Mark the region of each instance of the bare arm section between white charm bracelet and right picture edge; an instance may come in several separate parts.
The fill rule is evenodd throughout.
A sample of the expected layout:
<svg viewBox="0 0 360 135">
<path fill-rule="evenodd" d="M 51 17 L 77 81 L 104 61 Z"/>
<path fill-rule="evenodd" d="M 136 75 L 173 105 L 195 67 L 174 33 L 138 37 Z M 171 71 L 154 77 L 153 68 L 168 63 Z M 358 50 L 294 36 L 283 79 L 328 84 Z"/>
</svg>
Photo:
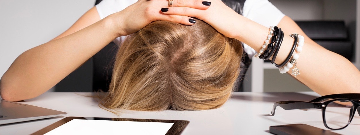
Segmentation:
<svg viewBox="0 0 360 135">
<path fill-rule="evenodd" d="M 345 57 L 310 43 L 304 45 L 299 56 L 301 75 L 296 79 L 310 89 L 321 95 L 360 93 L 360 72 Z"/>
</svg>

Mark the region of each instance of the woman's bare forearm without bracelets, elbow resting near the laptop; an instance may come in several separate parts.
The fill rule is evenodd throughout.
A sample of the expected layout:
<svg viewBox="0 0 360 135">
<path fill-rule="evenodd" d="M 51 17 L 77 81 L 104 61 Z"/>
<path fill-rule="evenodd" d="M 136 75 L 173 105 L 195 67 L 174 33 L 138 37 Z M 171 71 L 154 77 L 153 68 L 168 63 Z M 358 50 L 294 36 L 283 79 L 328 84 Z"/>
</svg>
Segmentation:
<svg viewBox="0 0 360 135">
<path fill-rule="evenodd" d="M 20 101 L 46 92 L 115 39 L 112 26 L 103 19 L 22 53 L 1 78 L 1 97 Z"/>
</svg>

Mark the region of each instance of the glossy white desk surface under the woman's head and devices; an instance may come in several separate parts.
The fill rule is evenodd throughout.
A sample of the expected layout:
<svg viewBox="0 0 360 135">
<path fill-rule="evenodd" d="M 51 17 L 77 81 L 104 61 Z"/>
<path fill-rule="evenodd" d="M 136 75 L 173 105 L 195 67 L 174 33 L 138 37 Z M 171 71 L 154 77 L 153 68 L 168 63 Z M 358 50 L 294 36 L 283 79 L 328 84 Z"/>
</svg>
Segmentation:
<svg viewBox="0 0 360 135">
<path fill-rule="evenodd" d="M 271 116 L 273 104 L 283 100 L 310 101 L 319 95 L 314 92 L 301 93 L 251 93 L 235 92 L 222 107 L 203 111 L 126 111 L 120 116 L 103 110 L 91 97 L 93 93 L 47 92 L 39 97 L 26 100 L 25 104 L 67 112 L 65 116 L 0 125 L 1 134 L 31 134 L 67 116 L 80 117 L 120 117 L 163 120 L 188 120 L 189 125 L 183 135 L 238 135 L 270 134 L 269 126 L 285 124 L 308 124 L 326 129 L 323 125 L 321 110 L 283 110 L 276 108 Z M 360 117 L 356 115 L 351 124 L 339 134 L 358 134 Z M 327 130 L 327 129 L 326 129 Z"/>
</svg>

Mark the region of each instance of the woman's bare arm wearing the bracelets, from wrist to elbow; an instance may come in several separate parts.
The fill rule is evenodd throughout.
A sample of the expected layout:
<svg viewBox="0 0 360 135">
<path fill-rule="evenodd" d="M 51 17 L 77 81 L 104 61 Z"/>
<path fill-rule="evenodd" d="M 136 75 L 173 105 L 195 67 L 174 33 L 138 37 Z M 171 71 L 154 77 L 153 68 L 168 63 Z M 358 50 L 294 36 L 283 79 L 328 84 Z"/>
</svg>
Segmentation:
<svg viewBox="0 0 360 135">
<path fill-rule="evenodd" d="M 242 33 L 236 38 L 259 51 L 264 44 L 269 28 L 246 18 L 241 19 L 246 27 L 238 29 Z M 303 50 L 298 53 L 297 68 L 300 69 L 301 74 L 296 76 L 296 79 L 321 95 L 360 93 L 360 90 L 357 89 L 360 86 L 359 70 L 344 57 L 328 51 L 312 41 L 300 28 L 297 28 L 296 24 L 292 25 L 291 23 L 286 23 L 286 25 L 294 28 L 287 28 L 285 25 L 279 24 L 284 31 L 284 40 L 275 63 L 282 64 L 289 55 L 294 39 L 288 35 L 299 33 L 305 36 L 305 43 Z M 288 73 L 291 74 L 292 70 L 289 70 Z"/>
</svg>

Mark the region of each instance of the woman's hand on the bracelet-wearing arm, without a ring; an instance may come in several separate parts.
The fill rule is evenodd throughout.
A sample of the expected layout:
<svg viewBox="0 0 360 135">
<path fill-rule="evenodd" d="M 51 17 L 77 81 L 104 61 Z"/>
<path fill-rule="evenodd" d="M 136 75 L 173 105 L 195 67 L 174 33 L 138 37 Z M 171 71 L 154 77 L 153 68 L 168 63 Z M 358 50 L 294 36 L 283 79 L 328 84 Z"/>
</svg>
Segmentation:
<svg viewBox="0 0 360 135">
<path fill-rule="evenodd" d="M 211 2 L 208 9 L 194 9 L 185 7 L 189 3 L 194 3 L 197 0 L 174 0 L 173 6 L 164 7 L 168 11 L 162 13 L 168 15 L 185 15 L 188 17 L 196 17 L 210 24 L 220 33 L 227 37 L 237 38 L 240 32 L 233 32 L 234 29 L 241 29 L 242 15 L 236 13 L 233 9 L 226 6 L 221 0 L 206 0 Z M 171 17 L 171 16 L 169 16 Z M 235 24 L 236 23 L 236 24 Z"/>
</svg>

